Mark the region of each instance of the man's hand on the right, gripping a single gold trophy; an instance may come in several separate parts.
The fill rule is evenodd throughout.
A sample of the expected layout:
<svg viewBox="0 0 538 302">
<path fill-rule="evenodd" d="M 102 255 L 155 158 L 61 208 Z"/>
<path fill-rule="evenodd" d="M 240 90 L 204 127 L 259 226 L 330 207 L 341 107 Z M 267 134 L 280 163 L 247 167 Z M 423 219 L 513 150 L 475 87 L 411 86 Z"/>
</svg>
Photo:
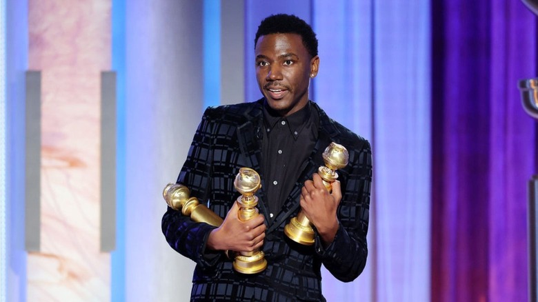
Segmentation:
<svg viewBox="0 0 538 302">
<path fill-rule="evenodd" d="M 337 209 L 341 199 L 340 182 L 332 183 L 332 193 L 329 193 L 317 173 L 312 181 L 305 181 L 301 190 L 303 214 L 315 225 L 324 246 L 332 243 L 338 231 Z"/>
</svg>

